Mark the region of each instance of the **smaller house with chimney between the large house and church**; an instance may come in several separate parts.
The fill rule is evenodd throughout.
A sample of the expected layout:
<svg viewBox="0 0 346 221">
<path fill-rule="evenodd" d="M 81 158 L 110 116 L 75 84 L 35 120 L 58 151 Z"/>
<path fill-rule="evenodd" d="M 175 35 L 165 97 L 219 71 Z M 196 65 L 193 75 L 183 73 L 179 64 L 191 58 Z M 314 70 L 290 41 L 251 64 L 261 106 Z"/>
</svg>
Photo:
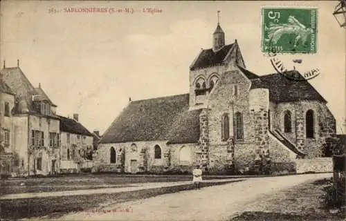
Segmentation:
<svg viewBox="0 0 346 221">
<path fill-rule="evenodd" d="M 93 166 L 94 136 L 78 118 L 77 113 L 73 114 L 73 118 L 60 116 L 61 173 L 79 173 Z"/>
</svg>

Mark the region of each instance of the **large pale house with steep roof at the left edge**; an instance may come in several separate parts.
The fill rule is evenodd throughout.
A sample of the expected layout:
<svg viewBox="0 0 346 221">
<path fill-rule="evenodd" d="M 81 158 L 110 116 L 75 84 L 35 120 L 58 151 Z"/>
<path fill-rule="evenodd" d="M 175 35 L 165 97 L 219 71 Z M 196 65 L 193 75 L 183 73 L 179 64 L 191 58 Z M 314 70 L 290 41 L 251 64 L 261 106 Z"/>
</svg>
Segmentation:
<svg viewBox="0 0 346 221">
<path fill-rule="evenodd" d="M 1 73 L 1 134 L 11 153 L 13 176 L 48 175 L 60 171 L 60 117 L 41 84 L 30 83 L 19 67 Z M 10 155 L 8 155 L 10 156 Z M 6 169 L 8 163 L 6 160 Z"/>
</svg>

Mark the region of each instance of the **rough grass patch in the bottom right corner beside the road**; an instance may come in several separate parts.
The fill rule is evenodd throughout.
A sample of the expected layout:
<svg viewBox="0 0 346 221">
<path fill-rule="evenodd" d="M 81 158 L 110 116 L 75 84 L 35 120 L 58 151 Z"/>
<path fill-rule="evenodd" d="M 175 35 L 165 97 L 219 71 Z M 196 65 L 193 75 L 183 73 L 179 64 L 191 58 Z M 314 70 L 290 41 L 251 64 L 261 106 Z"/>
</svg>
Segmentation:
<svg viewBox="0 0 346 221">
<path fill-rule="evenodd" d="M 230 218 L 232 221 L 248 220 L 345 220 L 344 213 L 329 213 L 323 204 L 328 181 L 317 180 L 266 195 L 248 208 L 251 211 Z"/>
</svg>

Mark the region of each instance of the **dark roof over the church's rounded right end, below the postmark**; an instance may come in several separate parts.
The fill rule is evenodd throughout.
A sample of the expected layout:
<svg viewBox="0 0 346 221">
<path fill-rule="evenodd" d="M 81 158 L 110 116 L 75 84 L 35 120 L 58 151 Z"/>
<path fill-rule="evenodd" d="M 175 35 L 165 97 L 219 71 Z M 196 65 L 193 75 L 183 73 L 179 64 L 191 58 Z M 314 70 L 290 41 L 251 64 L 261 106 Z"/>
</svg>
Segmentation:
<svg viewBox="0 0 346 221">
<path fill-rule="evenodd" d="M 293 71 L 290 71 L 293 72 Z M 296 71 L 295 71 L 296 72 Z M 295 74 L 297 74 L 296 72 Z M 300 75 L 300 73 L 298 73 Z M 300 75 L 302 77 L 302 75 Z M 269 86 L 269 99 L 273 102 L 297 102 L 300 100 L 327 101 L 318 91 L 302 77 L 299 81 L 294 81 L 284 77 L 280 73 L 260 76 L 260 79 Z"/>
</svg>

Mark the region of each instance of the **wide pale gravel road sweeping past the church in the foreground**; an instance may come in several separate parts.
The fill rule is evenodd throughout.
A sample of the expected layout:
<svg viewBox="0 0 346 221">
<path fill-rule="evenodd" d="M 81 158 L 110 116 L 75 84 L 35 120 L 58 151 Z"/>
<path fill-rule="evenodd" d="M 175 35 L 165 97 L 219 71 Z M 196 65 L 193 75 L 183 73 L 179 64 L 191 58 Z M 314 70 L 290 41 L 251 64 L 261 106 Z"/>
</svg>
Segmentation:
<svg viewBox="0 0 346 221">
<path fill-rule="evenodd" d="M 328 177 L 331 173 L 256 177 L 197 191 L 113 204 L 99 211 L 70 213 L 60 220 L 229 220 L 233 215 L 251 209 L 248 207 L 251 202 L 266 194 L 276 194 L 303 182 Z"/>
</svg>

